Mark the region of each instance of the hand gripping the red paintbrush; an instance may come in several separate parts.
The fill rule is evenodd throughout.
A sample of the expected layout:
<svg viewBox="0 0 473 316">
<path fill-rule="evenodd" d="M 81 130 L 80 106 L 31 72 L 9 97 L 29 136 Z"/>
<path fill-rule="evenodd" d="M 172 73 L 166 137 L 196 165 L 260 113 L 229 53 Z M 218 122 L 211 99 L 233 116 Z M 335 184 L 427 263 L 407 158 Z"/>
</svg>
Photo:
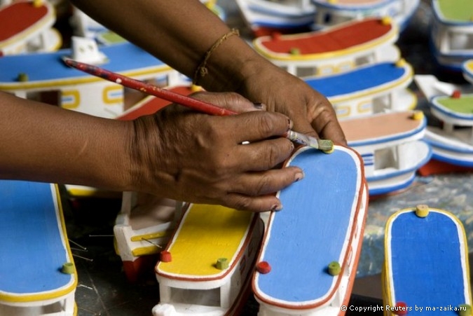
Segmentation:
<svg viewBox="0 0 473 316">
<path fill-rule="evenodd" d="M 137 191 L 256 212 L 281 209 L 274 193 L 303 177 L 299 167 L 275 168 L 294 149 L 277 137 L 291 121 L 252 111 L 254 104 L 236 93 L 193 97 L 245 113 L 209 116 L 173 104 L 135 120 L 130 170 Z"/>
</svg>

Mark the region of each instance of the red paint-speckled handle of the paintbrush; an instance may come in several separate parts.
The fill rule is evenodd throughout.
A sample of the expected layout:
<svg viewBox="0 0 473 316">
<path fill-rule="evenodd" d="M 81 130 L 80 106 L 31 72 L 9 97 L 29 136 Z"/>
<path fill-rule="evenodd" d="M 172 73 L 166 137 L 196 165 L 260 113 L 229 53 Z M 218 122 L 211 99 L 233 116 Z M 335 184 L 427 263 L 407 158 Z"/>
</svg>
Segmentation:
<svg viewBox="0 0 473 316">
<path fill-rule="evenodd" d="M 217 116 L 227 116 L 238 114 L 235 111 L 217 107 L 214 104 L 200 101 L 198 99 L 193 99 L 192 97 L 187 97 L 185 95 L 179 95 L 179 93 L 172 92 L 163 88 L 158 88 L 156 85 L 150 85 L 149 83 L 144 83 L 121 74 L 116 74 L 107 69 L 102 69 L 100 67 L 95 67 L 91 64 L 84 64 L 83 62 L 76 62 L 75 60 L 65 60 L 65 63 L 73 68 L 79 69 L 81 71 L 87 72 L 93 76 L 104 78 L 105 80 L 118 83 L 128 88 L 139 90 L 148 95 L 154 95 L 155 97 L 160 97 L 166 99 L 167 101 L 174 102 L 177 104 L 184 105 L 190 109 L 200 111 L 206 114 L 212 114 Z"/>
</svg>

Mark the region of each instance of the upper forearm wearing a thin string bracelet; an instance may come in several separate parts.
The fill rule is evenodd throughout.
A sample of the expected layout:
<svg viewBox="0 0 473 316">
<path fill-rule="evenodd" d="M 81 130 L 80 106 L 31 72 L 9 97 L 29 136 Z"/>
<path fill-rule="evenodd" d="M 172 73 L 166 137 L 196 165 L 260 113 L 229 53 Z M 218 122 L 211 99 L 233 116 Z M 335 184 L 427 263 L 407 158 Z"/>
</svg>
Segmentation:
<svg viewBox="0 0 473 316">
<path fill-rule="evenodd" d="M 230 29 L 198 0 L 72 0 L 73 4 L 193 78 L 205 52 Z M 111 6 L 113 4 L 113 6 Z M 126 21 L 126 22 L 124 22 Z M 257 61 L 257 62 L 256 62 Z M 207 90 L 234 91 L 266 62 L 238 36 L 231 36 L 212 52 L 208 75 L 199 84 Z"/>
</svg>

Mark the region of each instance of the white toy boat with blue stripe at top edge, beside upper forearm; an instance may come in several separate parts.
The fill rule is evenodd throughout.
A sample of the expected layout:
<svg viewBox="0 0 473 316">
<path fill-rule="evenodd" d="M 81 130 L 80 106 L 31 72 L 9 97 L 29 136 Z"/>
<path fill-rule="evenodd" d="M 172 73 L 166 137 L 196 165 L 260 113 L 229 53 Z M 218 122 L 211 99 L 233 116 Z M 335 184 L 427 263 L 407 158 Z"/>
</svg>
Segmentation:
<svg viewBox="0 0 473 316">
<path fill-rule="evenodd" d="M 313 24 L 310 0 L 236 0 L 242 17 L 255 34 L 294 32 Z"/>
</svg>

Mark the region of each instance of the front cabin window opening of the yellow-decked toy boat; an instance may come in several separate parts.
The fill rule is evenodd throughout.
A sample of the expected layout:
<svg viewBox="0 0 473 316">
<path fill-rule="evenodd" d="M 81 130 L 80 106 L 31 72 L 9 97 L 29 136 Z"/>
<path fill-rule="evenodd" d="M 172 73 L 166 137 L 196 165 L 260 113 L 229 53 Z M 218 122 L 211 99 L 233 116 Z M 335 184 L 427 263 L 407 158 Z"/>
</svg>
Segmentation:
<svg viewBox="0 0 473 316">
<path fill-rule="evenodd" d="M 174 303 L 220 306 L 220 288 L 178 289 L 171 288 L 171 301 Z"/>
</svg>

